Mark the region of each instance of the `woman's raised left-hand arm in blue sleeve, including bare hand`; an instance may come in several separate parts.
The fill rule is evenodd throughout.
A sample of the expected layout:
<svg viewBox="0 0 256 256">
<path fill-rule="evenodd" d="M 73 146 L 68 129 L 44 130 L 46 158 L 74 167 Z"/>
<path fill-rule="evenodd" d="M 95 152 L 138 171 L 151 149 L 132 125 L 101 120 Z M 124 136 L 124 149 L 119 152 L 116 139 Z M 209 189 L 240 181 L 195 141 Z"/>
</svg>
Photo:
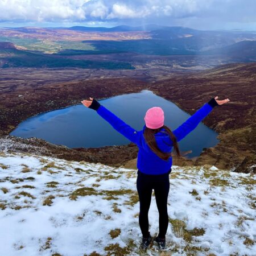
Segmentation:
<svg viewBox="0 0 256 256">
<path fill-rule="evenodd" d="M 106 109 L 102 106 L 98 101 L 93 98 L 92 101 L 82 101 L 82 104 L 87 106 L 90 109 L 96 110 L 96 112 L 104 118 L 107 122 L 112 125 L 112 127 L 129 139 L 131 142 L 134 142 L 139 146 L 141 144 L 141 136 L 139 131 L 133 129 L 131 126 L 127 125 L 127 123 L 123 122 L 119 117 L 114 115 L 110 110 Z"/>
</svg>

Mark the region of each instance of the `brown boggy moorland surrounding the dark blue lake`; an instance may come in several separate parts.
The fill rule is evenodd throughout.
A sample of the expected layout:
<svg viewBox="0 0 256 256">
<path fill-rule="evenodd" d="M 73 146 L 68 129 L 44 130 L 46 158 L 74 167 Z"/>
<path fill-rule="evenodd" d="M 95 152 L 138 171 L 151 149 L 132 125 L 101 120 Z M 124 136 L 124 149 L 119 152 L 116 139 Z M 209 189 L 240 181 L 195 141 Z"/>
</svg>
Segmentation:
<svg viewBox="0 0 256 256">
<path fill-rule="evenodd" d="M 78 104 L 84 98 L 112 97 L 118 94 L 139 92 L 149 89 L 161 97 L 175 102 L 181 109 L 193 114 L 211 97 L 230 98 L 229 104 L 217 106 L 213 113 L 204 119 L 204 123 L 220 133 L 220 143 L 216 147 L 205 149 L 199 158 L 184 160 L 174 164 L 214 164 L 218 168 L 237 168 L 255 171 L 249 168 L 255 163 L 255 81 L 256 64 L 226 64 L 201 72 L 173 75 L 171 79 L 146 82 L 136 79 L 94 79 L 52 84 L 50 82 L 31 82 L 30 86 L 21 83 L 5 85 L 2 80 L 0 96 L 1 135 L 7 135 L 24 119 L 47 110 Z M 15 146 L 18 138 L 3 136 L 2 150 L 28 151 L 27 147 Z M 22 144 L 29 144 L 33 151 L 36 139 L 20 139 Z M 12 145 L 8 146 L 8 141 Z M 20 141 L 19 141 L 20 142 Z M 39 140 L 38 142 L 39 143 Z M 39 143 L 40 144 L 40 143 Z M 68 149 L 59 147 L 53 150 L 52 144 L 43 142 L 47 150 L 40 154 L 56 155 L 59 158 L 80 160 L 105 164 L 126 164 L 133 166 L 137 147 L 128 146 L 104 148 Z M 16 148 L 16 150 L 15 150 Z M 39 146 L 40 148 L 40 146 Z M 36 150 L 35 150 L 36 151 Z M 65 152 L 64 152 L 65 151 Z M 120 157 L 120 153 L 122 157 Z M 87 157 L 88 156 L 88 157 Z M 116 156 L 116 157 L 115 157 Z M 79 157 L 79 159 L 77 159 Z M 81 158 L 80 158 L 81 157 Z M 247 168 L 248 167 L 248 168 Z"/>
</svg>

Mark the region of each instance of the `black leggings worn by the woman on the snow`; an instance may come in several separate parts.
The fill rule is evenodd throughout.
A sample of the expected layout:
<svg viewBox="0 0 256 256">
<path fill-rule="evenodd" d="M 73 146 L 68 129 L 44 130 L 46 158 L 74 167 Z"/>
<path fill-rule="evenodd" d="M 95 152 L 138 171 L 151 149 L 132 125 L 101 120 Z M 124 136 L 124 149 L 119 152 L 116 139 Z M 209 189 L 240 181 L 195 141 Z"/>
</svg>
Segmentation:
<svg viewBox="0 0 256 256">
<path fill-rule="evenodd" d="M 139 194 L 139 226 L 142 236 L 148 237 L 148 210 L 151 203 L 152 189 L 159 212 L 159 237 L 166 236 L 168 228 L 167 198 L 170 190 L 169 174 L 149 175 L 138 170 L 137 191 Z"/>
</svg>

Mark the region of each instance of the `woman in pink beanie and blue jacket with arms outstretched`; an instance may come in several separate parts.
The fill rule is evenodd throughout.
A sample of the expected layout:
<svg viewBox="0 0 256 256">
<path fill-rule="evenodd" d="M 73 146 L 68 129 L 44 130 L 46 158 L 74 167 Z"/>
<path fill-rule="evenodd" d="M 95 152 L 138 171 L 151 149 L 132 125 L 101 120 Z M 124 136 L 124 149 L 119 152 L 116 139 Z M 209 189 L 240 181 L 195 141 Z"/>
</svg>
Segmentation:
<svg viewBox="0 0 256 256">
<path fill-rule="evenodd" d="M 159 234 L 154 240 L 158 243 L 160 249 L 164 249 L 166 246 L 165 237 L 168 228 L 167 199 L 170 189 L 169 174 L 172 166 L 172 147 L 174 147 L 176 155 L 180 157 L 177 142 L 194 130 L 212 111 L 214 106 L 229 102 L 228 98 L 222 101 L 217 100 L 217 98 L 216 96 L 205 103 L 174 131 L 164 125 L 164 112 L 159 107 L 147 110 L 144 117 L 145 125 L 141 131 L 137 131 L 100 105 L 94 98 L 81 101 L 84 106 L 96 110 L 115 130 L 137 144 L 139 148 L 137 191 L 140 204 L 141 247 L 143 249 L 147 249 L 152 240 L 150 232 L 148 232 L 148 210 L 151 203 L 152 189 L 155 192 L 155 200 L 159 212 Z"/>
</svg>

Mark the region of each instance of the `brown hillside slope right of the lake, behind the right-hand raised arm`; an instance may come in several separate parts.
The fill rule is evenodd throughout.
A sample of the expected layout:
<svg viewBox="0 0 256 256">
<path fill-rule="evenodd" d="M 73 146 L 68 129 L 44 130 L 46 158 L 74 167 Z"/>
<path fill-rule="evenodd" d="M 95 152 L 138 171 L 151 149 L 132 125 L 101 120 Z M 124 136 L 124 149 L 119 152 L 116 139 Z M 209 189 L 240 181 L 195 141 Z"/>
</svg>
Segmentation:
<svg viewBox="0 0 256 256">
<path fill-rule="evenodd" d="M 218 168 L 232 168 L 246 157 L 255 163 L 255 71 L 256 63 L 225 64 L 150 85 L 154 93 L 189 114 L 195 113 L 214 96 L 230 99 L 228 104 L 214 108 L 203 121 L 219 133 L 220 143 L 201 153 L 197 159 L 199 165 L 209 163 Z"/>
</svg>

